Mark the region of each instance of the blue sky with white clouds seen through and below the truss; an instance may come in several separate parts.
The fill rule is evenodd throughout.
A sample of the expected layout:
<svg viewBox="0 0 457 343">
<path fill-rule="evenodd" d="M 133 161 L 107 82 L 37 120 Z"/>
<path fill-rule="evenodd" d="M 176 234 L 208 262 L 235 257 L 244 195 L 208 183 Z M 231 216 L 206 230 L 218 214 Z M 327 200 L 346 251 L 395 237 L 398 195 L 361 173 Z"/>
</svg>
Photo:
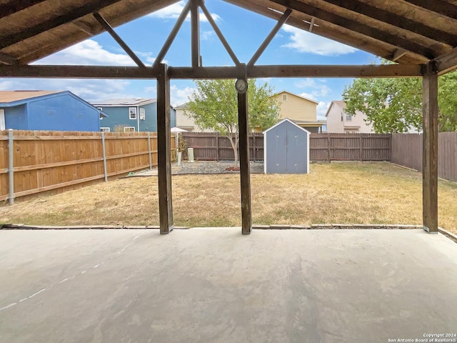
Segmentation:
<svg viewBox="0 0 457 343">
<path fill-rule="evenodd" d="M 116 27 L 145 64 L 151 65 L 169 36 L 184 1 L 159 12 Z M 276 21 L 220 0 L 207 0 L 206 7 L 241 62 L 247 63 Z M 318 21 L 316 21 L 318 24 Z M 232 66 L 233 62 L 211 25 L 201 14 L 201 55 L 204 66 Z M 256 64 L 370 64 L 372 54 L 284 25 Z M 165 61 L 170 66 L 191 64 L 190 21 L 186 20 Z M 36 64 L 134 65 L 124 50 L 109 36 L 100 34 Z M 343 86 L 351 79 L 259 79 L 274 91 L 287 90 L 318 101 L 318 119 L 323 119 L 332 100 L 341 99 Z M 156 81 L 99 79 L 0 79 L 0 90 L 69 90 L 86 101 L 117 97 L 156 97 Z M 194 89 L 191 80 L 171 80 L 171 104 L 187 101 Z"/>
</svg>

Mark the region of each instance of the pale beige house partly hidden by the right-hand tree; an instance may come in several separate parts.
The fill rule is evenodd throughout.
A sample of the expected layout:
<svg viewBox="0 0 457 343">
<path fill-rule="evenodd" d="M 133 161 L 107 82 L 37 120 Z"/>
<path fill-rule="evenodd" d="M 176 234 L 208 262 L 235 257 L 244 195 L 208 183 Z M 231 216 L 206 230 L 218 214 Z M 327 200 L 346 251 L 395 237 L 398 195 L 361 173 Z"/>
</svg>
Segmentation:
<svg viewBox="0 0 457 343">
<path fill-rule="evenodd" d="M 346 103 L 344 101 L 331 101 L 326 113 L 327 132 L 336 134 L 371 134 L 374 133 L 373 126 L 367 124 L 363 119 L 366 115 L 356 111 L 356 115 L 346 114 Z"/>
</svg>

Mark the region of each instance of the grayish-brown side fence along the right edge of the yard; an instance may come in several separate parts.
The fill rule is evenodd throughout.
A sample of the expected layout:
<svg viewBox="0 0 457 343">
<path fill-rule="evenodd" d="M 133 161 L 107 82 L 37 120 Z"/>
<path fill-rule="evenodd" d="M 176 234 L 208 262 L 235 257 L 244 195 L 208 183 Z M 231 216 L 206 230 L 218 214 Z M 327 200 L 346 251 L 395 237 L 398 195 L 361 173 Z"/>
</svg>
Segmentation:
<svg viewBox="0 0 457 343">
<path fill-rule="evenodd" d="M 391 162 L 422 171 L 422 134 L 392 134 Z M 438 177 L 457 182 L 457 132 L 438 133 Z"/>
</svg>

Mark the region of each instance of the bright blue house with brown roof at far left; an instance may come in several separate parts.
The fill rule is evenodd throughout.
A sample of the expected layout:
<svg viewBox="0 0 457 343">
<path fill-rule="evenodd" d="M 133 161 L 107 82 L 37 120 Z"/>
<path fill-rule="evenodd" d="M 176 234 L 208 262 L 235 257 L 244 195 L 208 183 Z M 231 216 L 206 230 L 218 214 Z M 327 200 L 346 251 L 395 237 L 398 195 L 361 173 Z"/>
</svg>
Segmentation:
<svg viewBox="0 0 457 343">
<path fill-rule="evenodd" d="M 102 117 L 71 91 L 0 91 L 0 130 L 100 131 Z"/>
</svg>

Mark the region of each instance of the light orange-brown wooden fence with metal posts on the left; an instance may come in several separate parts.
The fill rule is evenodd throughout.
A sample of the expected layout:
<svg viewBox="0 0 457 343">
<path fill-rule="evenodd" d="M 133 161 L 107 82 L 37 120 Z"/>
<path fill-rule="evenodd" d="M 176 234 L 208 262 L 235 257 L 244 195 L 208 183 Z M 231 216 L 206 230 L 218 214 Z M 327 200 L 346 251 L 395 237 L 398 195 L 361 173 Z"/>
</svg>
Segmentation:
<svg viewBox="0 0 457 343">
<path fill-rule="evenodd" d="M 11 204 L 156 165 L 155 132 L 0 131 L 0 200 Z"/>
</svg>

